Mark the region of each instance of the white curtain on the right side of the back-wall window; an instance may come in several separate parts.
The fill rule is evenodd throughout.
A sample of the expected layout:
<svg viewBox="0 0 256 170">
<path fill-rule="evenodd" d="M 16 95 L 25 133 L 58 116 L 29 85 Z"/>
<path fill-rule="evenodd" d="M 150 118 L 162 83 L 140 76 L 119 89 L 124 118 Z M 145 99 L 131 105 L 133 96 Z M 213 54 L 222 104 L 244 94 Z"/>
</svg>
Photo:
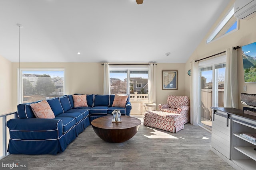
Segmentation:
<svg viewBox="0 0 256 170">
<path fill-rule="evenodd" d="M 148 66 L 148 102 L 156 102 L 156 64 Z"/>
</svg>

